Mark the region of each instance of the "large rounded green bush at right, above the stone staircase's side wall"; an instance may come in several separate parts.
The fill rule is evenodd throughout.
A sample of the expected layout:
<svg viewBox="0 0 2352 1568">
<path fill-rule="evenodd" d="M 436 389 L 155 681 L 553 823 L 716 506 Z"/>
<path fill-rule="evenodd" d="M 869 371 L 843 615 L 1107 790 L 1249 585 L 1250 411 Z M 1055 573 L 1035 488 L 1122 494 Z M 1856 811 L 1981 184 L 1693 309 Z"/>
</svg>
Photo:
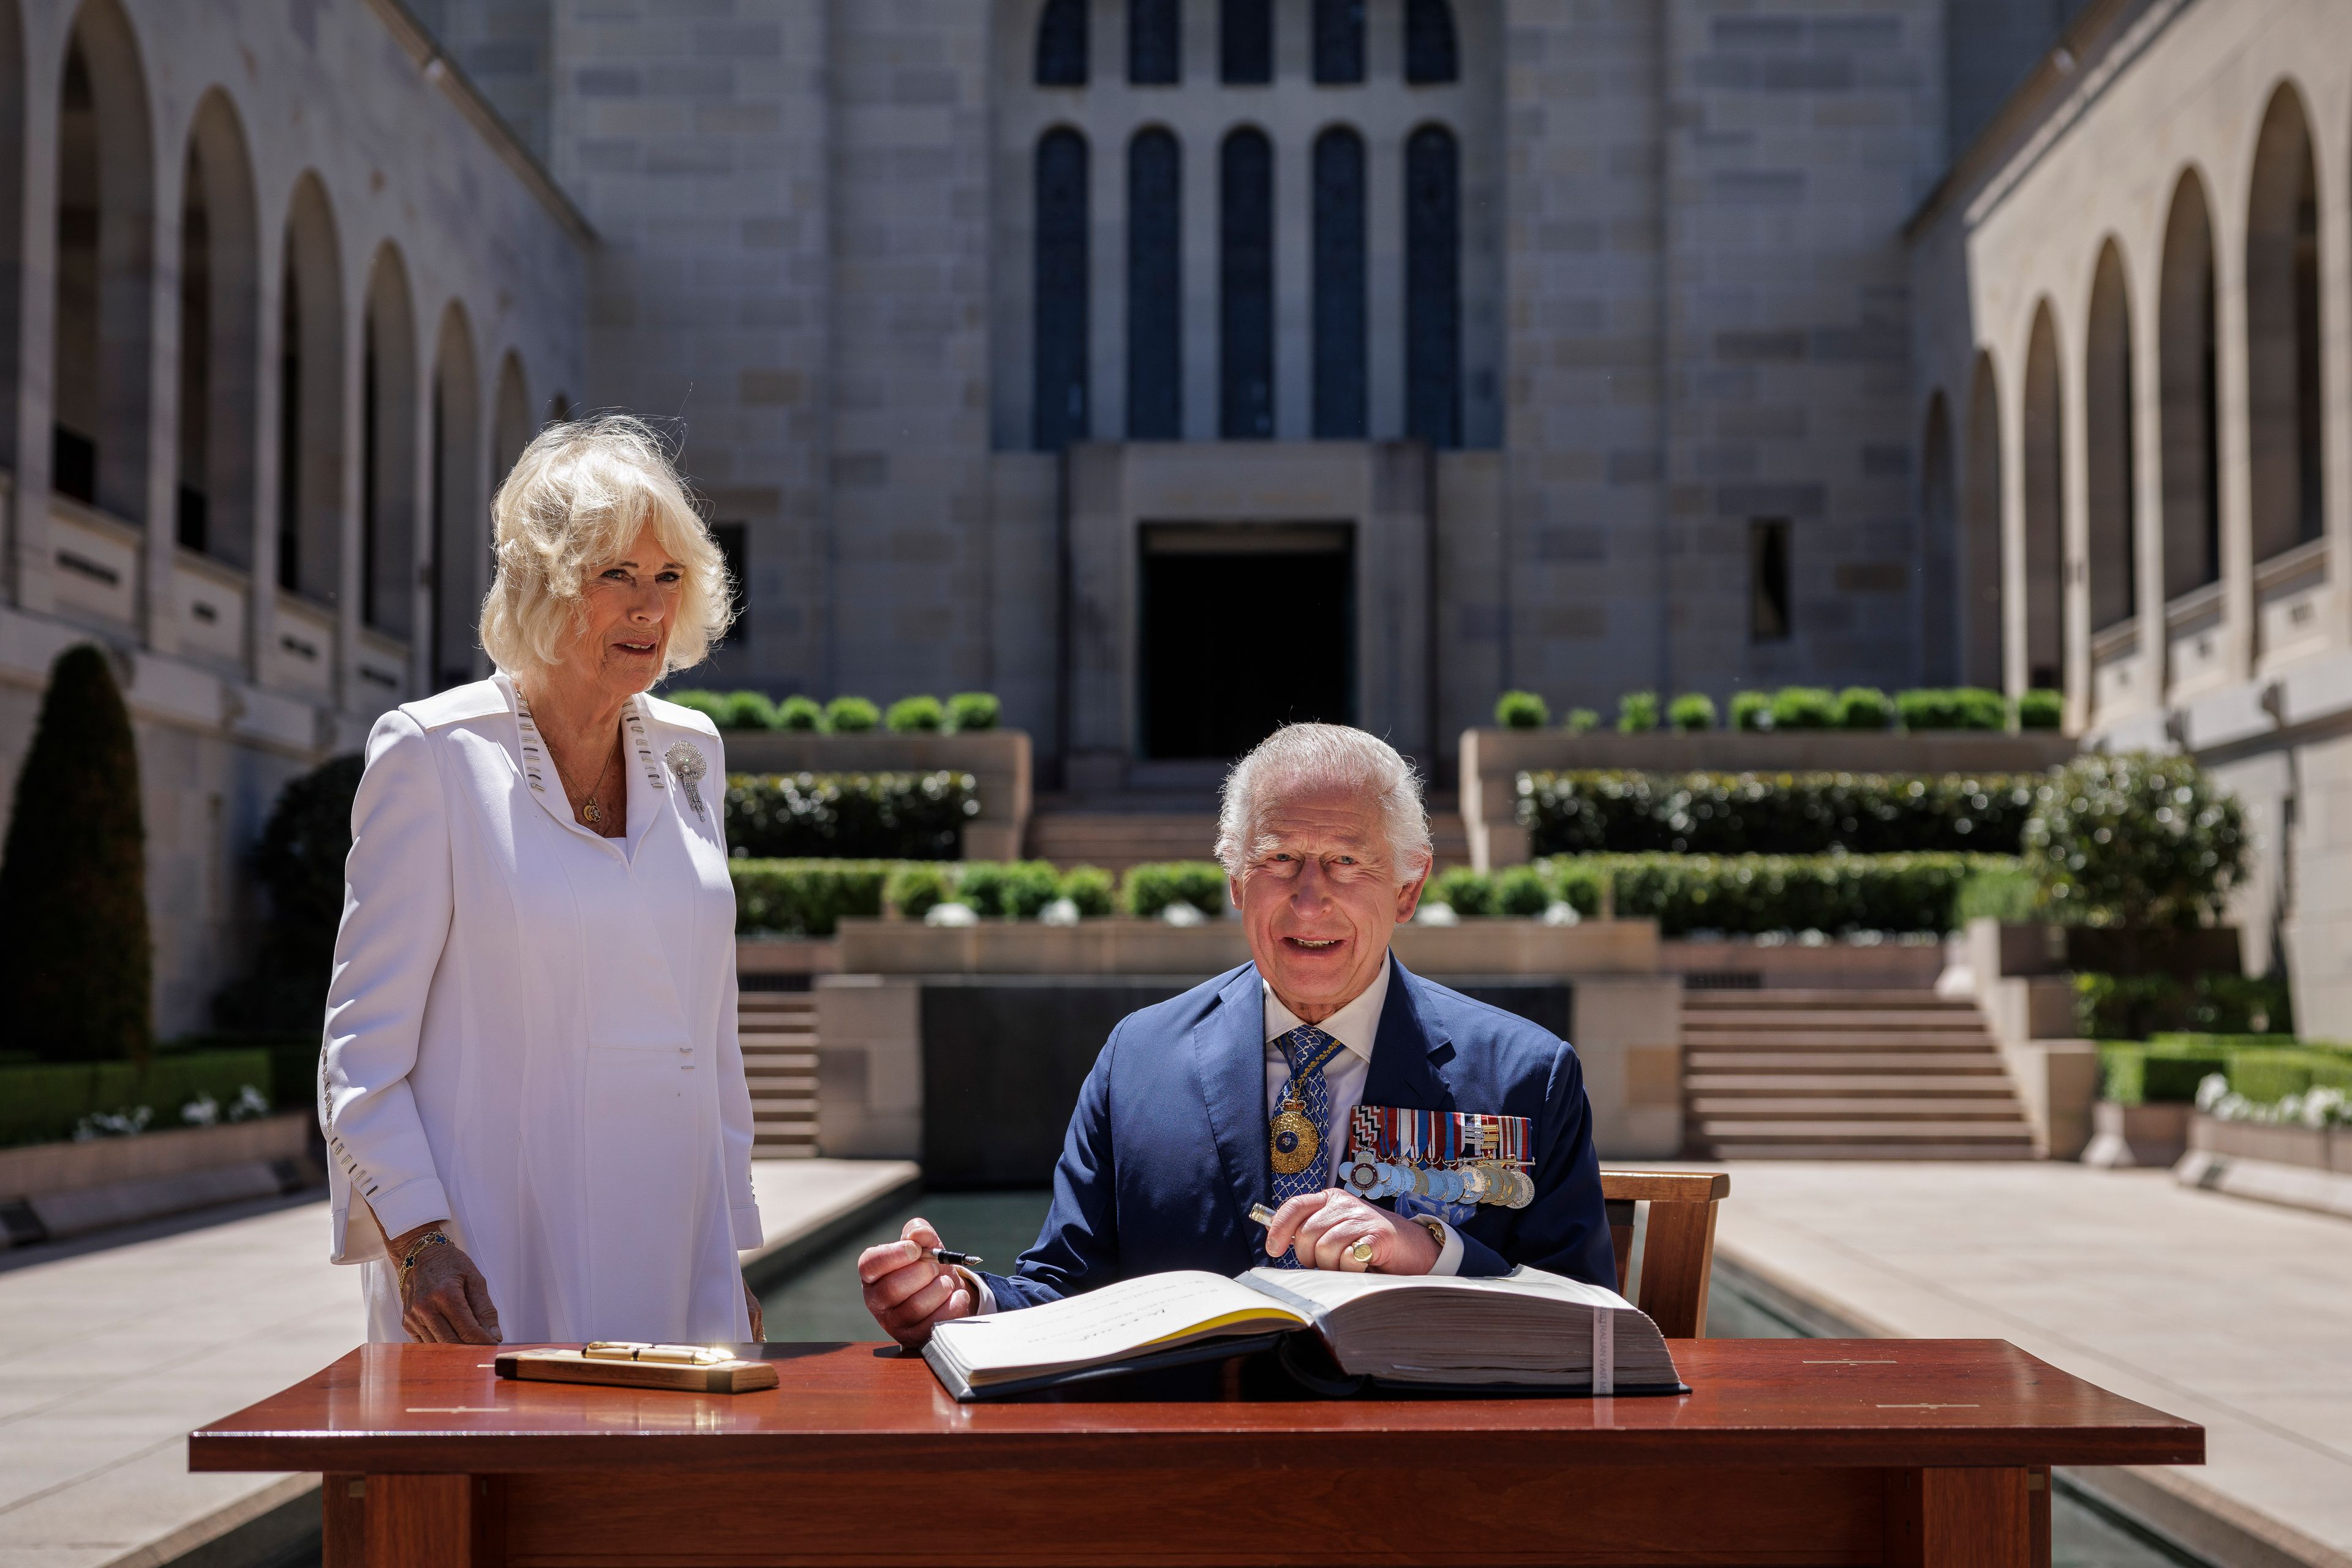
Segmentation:
<svg viewBox="0 0 2352 1568">
<path fill-rule="evenodd" d="M 2042 898 L 2063 917 L 2197 926 L 2246 867 L 2246 818 L 2187 757 L 2077 757 L 2025 823 Z"/>
</svg>

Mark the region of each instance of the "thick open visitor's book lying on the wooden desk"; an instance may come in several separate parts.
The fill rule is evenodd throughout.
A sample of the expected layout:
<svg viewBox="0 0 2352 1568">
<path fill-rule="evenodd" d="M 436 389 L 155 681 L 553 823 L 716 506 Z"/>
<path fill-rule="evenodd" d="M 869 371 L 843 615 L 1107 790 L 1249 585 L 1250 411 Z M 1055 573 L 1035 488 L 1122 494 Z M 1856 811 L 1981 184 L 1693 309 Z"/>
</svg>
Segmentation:
<svg viewBox="0 0 2352 1568">
<path fill-rule="evenodd" d="M 1543 1269 L 1496 1279 L 1327 1269 L 1174 1272 L 941 1324 L 922 1359 L 960 1401 L 1319 1342 L 1338 1378 L 1454 1392 L 1689 1394 L 1665 1335 L 1616 1291 Z M 1289 1349 L 1289 1347 L 1284 1347 Z"/>
</svg>

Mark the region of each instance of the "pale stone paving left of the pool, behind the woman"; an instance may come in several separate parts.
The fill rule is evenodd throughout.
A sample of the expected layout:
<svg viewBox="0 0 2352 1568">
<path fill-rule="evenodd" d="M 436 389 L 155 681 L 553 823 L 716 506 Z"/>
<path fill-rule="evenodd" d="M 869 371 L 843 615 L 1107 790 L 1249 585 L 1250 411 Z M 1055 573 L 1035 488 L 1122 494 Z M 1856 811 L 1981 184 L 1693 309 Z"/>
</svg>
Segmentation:
<svg viewBox="0 0 2352 1568">
<path fill-rule="evenodd" d="M 917 1175 L 776 1159 L 753 1180 L 767 1246 Z M 0 1272 L 0 1568 L 148 1568 L 259 1519 L 315 1476 L 188 1474 L 186 1434 L 367 1333 L 355 1274 L 303 1201 Z"/>
</svg>

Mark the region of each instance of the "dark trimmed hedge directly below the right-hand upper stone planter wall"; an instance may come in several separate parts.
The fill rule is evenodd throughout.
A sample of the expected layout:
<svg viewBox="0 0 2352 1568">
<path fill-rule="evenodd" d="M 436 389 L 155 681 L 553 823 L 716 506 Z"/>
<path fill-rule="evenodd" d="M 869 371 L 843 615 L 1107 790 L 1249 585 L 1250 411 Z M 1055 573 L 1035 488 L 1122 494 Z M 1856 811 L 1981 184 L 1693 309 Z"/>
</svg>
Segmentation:
<svg viewBox="0 0 2352 1568">
<path fill-rule="evenodd" d="M 2042 773 L 1519 773 L 1538 856 L 1997 853 L 2025 839 Z"/>
</svg>

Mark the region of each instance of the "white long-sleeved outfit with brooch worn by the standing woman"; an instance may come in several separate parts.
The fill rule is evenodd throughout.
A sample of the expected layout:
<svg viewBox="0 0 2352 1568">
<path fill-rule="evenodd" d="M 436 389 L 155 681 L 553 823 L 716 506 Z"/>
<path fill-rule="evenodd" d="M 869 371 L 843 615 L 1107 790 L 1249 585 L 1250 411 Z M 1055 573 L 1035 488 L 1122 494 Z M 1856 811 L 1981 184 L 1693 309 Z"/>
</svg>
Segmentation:
<svg viewBox="0 0 2352 1568">
<path fill-rule="evenodd" d="M 442 1218 L 510 1342 L 750 1338 L 717 729 L 635 698 L 623 766 L 628 835 L 602 839 L 503 675 L 367 738 L 320 1121 L 334 1260 L 367 1265 L 374 1340 L 407 1338 L 381 1237 Z"/>
</svg>

